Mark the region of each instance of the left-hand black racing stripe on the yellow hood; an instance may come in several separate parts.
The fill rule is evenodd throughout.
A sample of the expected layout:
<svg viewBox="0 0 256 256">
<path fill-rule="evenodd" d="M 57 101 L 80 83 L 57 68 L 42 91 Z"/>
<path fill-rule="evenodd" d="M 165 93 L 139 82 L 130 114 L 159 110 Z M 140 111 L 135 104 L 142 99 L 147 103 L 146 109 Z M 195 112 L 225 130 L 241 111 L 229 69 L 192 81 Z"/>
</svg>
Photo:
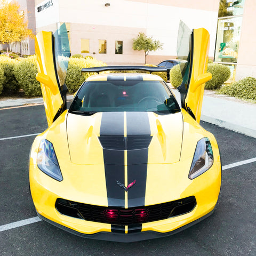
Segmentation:
<svg viewBox="0 0 256 256">
<path fill-rule="evenodd" d="M 100 136 L 124 136 L 124 113 L 102 113 Z M 124 182 L 124 150 L 103 148 L 105 179 L 108 206 L 125 206 L 125 190 L 119 187 L 116 180 Z"/>
</svg>

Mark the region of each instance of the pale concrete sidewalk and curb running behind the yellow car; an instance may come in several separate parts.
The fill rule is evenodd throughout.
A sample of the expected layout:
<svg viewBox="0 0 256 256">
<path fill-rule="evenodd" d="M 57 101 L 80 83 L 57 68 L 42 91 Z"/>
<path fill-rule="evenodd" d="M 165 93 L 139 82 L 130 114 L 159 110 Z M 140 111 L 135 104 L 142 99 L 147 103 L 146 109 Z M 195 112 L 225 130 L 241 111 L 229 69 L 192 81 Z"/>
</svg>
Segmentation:
<svg viewBox="0 0 256 256">
<path fill-rule="evenodd" d="M 180 94 L 172 89 L 178 102 Z M 68 95 L 67 100 L 73 99 Z M 0 101 L 0 108 L 43 103 L 43 98 Z M 256 138 L 256 104 L 205 91 L 201 120 Z"/>
</svg>

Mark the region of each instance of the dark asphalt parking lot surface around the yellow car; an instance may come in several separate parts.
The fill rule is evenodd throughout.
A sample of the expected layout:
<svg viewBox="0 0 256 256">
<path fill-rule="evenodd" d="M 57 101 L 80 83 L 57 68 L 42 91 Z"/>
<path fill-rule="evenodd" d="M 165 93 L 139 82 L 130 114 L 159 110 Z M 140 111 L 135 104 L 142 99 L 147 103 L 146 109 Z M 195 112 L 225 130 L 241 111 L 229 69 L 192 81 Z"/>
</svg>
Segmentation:
<svg viewBox="0 0 256 256">
<path fill-rule="evenodd" d="M 1 226 L 36 217 L 29 193 L 28 156 L 35 135 L 47 128 L 44 106 L 0 109 Z M 202 122 L 227 166 L 256 157 L 256 139 Z M 10 139 L 6 139 L 10 138 Z M 256 255 L 256 162 L 227 167 L 211 217 L 176 235 L 132 244 L 85 239 L 44 221 L 0 231 L 0 255 Z"/>
</svg>

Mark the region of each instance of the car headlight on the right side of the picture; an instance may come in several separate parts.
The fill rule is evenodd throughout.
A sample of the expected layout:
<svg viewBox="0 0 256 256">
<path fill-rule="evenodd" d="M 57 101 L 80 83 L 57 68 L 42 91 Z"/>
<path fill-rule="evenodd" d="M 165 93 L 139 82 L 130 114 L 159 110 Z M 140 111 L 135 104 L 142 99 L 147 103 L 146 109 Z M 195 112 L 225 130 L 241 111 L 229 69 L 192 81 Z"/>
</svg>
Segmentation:
<svg viewBox="0 0 256 256">
<path fill-rule="evenodd" d="M 195 179 L 206 172 L 213 164 L 213 153 L 210 140 L 203 138 L 197 142 L 193 162 L 190 167 L 189 179 Z"/>
</svg>

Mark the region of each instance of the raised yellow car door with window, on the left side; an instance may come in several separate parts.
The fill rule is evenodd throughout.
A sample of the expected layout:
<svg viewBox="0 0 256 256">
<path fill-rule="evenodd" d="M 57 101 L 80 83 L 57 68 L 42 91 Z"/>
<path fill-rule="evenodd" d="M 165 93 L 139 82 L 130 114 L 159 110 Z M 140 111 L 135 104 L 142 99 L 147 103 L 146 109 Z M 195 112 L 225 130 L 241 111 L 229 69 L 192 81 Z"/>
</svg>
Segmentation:
<svg viewBox="0 0 256 256">
<path fill-rule="evenodd" d="M 35 51 L 47 123 L 50 126 L 67 108 L 65 78 L 70 57 L 65 23 L 57 31 L 40 31 L 35 38 Z"/>
</svg>

